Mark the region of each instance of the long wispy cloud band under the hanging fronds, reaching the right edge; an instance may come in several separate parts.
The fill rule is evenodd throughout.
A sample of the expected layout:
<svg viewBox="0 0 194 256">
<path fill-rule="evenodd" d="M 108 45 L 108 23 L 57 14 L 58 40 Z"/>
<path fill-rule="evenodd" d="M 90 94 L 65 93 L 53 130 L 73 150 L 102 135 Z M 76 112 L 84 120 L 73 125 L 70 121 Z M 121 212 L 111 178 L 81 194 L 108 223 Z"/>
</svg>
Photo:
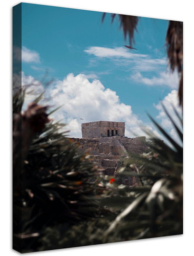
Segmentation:
<svg viewBox="0 0 194 256">
<path fill-rule="evenodd" d="M 171 89 L 177 88 L 178 73 L 171 73 L 167 68 L 167 58 L 150 58 L 149 55 L 138 54 L 134 50 L 124 47 L 105 48 L 89 47 L 84 52 L 92 55 L 90 61 L 108 59 L 111 67 L 125 71 L 130 75 L 133 82 L 145 86 L 166 86 Z M 95 58 L 95 59 L 94 59 Z M 152 74 L 152 76 L 150 76 Z"/>
</svg>

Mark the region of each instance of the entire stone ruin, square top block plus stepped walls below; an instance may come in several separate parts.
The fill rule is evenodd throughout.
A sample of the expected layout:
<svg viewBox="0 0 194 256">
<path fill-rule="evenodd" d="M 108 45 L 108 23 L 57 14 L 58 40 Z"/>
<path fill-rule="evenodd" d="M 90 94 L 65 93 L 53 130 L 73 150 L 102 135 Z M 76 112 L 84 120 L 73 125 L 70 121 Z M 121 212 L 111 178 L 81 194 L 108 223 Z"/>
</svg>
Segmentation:
<svg viewBox="0 0 194 256">
<path fill-rule="evenodd" d="M 116 176 L 129 153 L 142 154 L 148 150 L 145 137 L 128 138 L 124 136 L 125 123 L 96 121 L 82 123 L 82 138 L 69 138 L 76 143 L 80 153 L 89 154 L 91 163 L 103 169 L 104 175 Z M 137 182 L 135 177 L 120 177 L 120 183 L 132 186 Z"/>
</svg>

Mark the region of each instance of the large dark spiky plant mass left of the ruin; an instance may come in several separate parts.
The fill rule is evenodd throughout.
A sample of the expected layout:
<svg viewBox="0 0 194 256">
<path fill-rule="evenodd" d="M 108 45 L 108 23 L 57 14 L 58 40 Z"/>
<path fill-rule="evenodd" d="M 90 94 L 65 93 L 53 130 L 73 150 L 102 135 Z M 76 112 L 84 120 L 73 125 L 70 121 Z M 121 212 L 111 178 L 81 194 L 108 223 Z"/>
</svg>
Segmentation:
<svg viewBox="0 0 194 256">
<path fill-rule="evenodd" d="M 64 124 L 49 120 L 40 97 L 21 114 L 23 99 L 19 92 L 13 100 L 13 243 L 25 252 L 37 249 L 46 227 L 68 229 L 102 214 L 96 198 L 105 187 L 97 167 L 60 132 Z"/>
</svg>

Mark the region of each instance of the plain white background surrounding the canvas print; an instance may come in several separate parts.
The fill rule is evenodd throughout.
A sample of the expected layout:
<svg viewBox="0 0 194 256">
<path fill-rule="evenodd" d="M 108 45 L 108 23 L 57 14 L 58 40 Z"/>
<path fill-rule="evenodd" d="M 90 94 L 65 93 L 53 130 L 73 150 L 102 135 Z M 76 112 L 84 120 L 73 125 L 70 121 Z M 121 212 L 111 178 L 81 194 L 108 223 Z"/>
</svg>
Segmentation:
<svg viewBox="0 0 194 256">
<path fill-rule="evenodd" d="M 1 254 L 13 255 L 12 250 L 12 7 L 20 2 L 1 2 L 1 167 L 0 167 L 0 242 Z M 192 1 L 174 0 L 47 0 L 26 3 L 69 7 L 84 10 L 122 13 L 137 16 L 181 20 L 184 22 L 184 234 L 167 238 L 120 242 L 98 246 L 36 252 L 35 255 L 192 255 L 193 233 L 193 5 Z M 33 255 L 33 254 L 32 254 Z"/>
</svg>

